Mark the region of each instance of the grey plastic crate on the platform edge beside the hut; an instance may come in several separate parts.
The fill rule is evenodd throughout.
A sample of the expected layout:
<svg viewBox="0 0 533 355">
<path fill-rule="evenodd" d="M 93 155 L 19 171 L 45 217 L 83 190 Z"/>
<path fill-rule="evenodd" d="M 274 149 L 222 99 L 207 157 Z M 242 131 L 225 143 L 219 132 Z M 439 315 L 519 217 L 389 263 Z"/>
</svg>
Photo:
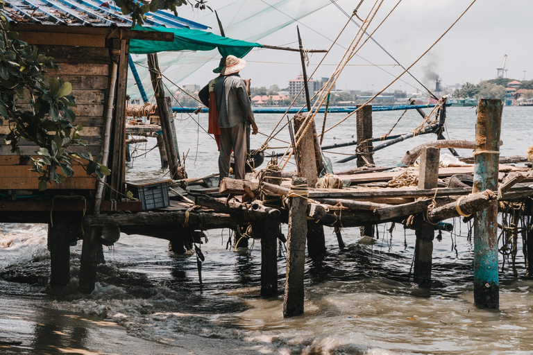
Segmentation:
<svg viewBox="0 0 533 355">
<path fill-rule="evenodd" d="M 142 210 L 148 211 L 170 206 L 168 182 L 171 180 L 140 180 L 126 182 L 126 185 L 133 197 L 142 202 Z"/>
</svg>

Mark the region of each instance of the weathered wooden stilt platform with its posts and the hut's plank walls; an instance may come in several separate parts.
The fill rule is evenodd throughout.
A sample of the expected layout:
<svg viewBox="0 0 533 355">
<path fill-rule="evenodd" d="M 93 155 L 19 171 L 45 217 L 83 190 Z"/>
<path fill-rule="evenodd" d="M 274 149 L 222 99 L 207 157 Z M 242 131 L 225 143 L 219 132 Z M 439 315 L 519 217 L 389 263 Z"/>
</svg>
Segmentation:
<svg viewBox="0 0 533 355">
<path fill-rule="evenodd" d="M 33 12 L 31 14 L 29 17 L 33 17 Z M 475 303 L 485 308 L 498 308 L 498 211 L 515 220 L 518 216 L 531 216 L 530 196 L 533 196 L 532 185 L 528 184 L 533 182 L 532 171 L 508 164 L 516 159 L 499 158 L 501 101 L 480 100 L 474 142 L 443 139 L 446 97 L 439 100 L 430 114 L 434 119 L 430 120 L 430 115 L 426 116 L 417 108 L 423 123 L 412 132 L 396 137 L 373 137 L 372 107 L 359 106 L 355 110 L 356 150 L 341 161 L 357 159 L 357 167 L 337 175 L 325 168 L 313 116 L 296 114 L 289 122 L 294 149 L 288 153 L 289 156 L 294 153 L 296 158 L 295 173 L 284 175 L 282 167 L 272 160 L 257 174 L 248 175 L 246 180 L 226 178 L 219 187 L 212 187 L 208 184 L 216 179 L 212 175 L 187 179 L 178 153 L 169 98 L 164 97 L 154 54 L 149 55 L 149 67 L 159 124 L 128 126 L 126 130 L 129 41 L 172 41 L 173 35 L 132 31 L 130 24 L 124 21 L 106 22 L 102 26 L 58 26 L 24 21 L 14 23 L 12 28 L 23 40 L 38 46 L 42 53 L 53 55 L 61 64 L 60 69 L 50 70 L 47 75 L 54 78 L 59 75 L 76 87 L 74 95 L 79 100 L 74 112 L 78 121 L 74 123 L 83 123 L 87 146 L 74 149 L 94 155 L 102 150 L 101 164 L 109 166 L 111 171 L 107 180 L 96 179 L 87 176 L 83 166 L 75 164 L 74 177 L 47 191 L 37 191 L 38 175 L 31 171 L 28 157 L 10 153 L 8 146 L 0 147 L 0 223 L 49 225 L 52 287 L 69 284 L 69 248 L 79 240 L 83 240 L 79 288 L 83 293 L 91 293 L 96 282 L 96 266 L 103 260 L 103 245 L 116 243 L 121 232 L 167 239 L 174 252 L 194 249 L 199 255 L 197 244 L 202 231 L 230 228 L 239 236 L 236 247 L 246 247 L 250 238 L 260 239 L 261 295 L 264 296 L 278 295 L 278 241 L 287 242 L 283 314 L 298 315 L 304 311 L 305 250 L 308 257 L 320 257 L 325 253 L 323 226 L 334 228 L 342 249 L 343 228 L 360 227 L 362 236 L 373 238 L 375 225 L 402 223 L 416 234 L 414 282 L 428 287 L 434 231 L 449 230 L 446 220 L 462 217 L 463 221 L 473 220 L 474 223 Z M 302 47 L 300 52 L 303 58 Z M 303 71 L 305 82 L 305 65 Z M 307 111 L 311 112 L 305 88 Z M 158 184 L 155 188 L 162 187 L 164 194 L 168 187 L 174 196 L 170 201 L 162 199 L 164 207 L 143 211 L 143 208 L 150 208 L 147 206 L 157 207 L 160 200 L 154 198 L 154 205 L 146 201 L 143 204 L 128 195 L 133 188 L 146 184 L 134 182 L 127 191 L 126 135 L 159 131 L 162 162 L 165 155 L 171 181 L 155 182 Z M 395 168 L 374 166 L 375 151 L 431 133 L 437 135 L 439 143 L 416 147 L 420 155 L 418 168 L 412 164 Z M 373 146 L 373 141 L 380 144 Z M 457 155 L 454 147 L 475 150 L 471 158 L 473 165 L 441 168 L 439 148 L 448 148 Z M 38 149 L 31 144 L 21 144 L 19 148 L 23 155 L 35 155 Z M 412 155 L 409 153 L 409 159 Z M 523 159 L 518 161 L 523 162 Z M 280 232 L 281 223 L 288 225 L 287 237 Z M 528 218 L 527 225 L 523 226 L 528 275 L 533 275 L 531 225 L 531 218 Z M 517 236 L 518 230 L 507 228 L 505 233 Z M 201 266 L 200 261 L 198 265 Z"/>
</svg>

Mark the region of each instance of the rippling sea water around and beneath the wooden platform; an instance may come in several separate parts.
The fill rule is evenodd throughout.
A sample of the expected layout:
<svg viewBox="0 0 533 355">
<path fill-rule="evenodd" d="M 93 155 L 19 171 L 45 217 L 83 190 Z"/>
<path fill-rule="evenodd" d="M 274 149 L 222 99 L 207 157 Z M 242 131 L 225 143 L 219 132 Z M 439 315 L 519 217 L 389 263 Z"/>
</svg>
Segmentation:
<svg viewBox="0 0 533 355">
<path fill-rule="evenodd" d="M 389 131 L 402 111 L 374 112 L 374 136 Z M 326 128 L 346 114 L 328 116 Z M 322 117 L 316 119 L 320 131 Z M 475 138 L 475 107 L 449 107 L 446 133 L 451 139 Z M 530 145 L 533 107 L 505 107 L 502 156 L 525 155 Z M 269 135 L 280 115 L 256 117 Z M 189 176 L 217 170 L 217 148 L 204 128 L 207 116 L 176 116 L 180 153 L 187 155 Z M 282 124 L 286 122 L 283 119 Z M 409 111 L 392 135 L 421 123 Z M 252 148 L 266 137 L 252 138 Z M 285 151 L 287 129 L 267 152 Z M 375 153 L 378 166 L 395 166 L 409 148 L 435 139 L 425 135 Z M 162 177 L 155 139 L 137 146 L 127 178 Z M 327 132 L 324 145 L 355 140 L 355 115 Z M 284 142 L 285 141 L 285 142 Z M 335 164 L 353 147 L 325 153 L 336 171 L 355 161 Z M 441 154 L 447 153 L 441 150 Z M 468 150 L 459 150 L 471 156 Z M 289 162 L 285 171 L 294 170 Z M 358 243 L 359 229 L 343 231 L 339 251 L 332 229 L 325 227 L 328 252 L 305 264 L 305 313 L 282 317 L 285 250 L 278 258 L 280 295 L 260 291 L 260 243 L 234 250 L 228 230 L 208 231 L 198 281 L 195 257 L 169 253 L 167 242 L 121 235 L 105 248 L 95 291 L 76 291 L 81 242 L 71 248 L 73 280 L 61 295 L 47 288 L 49 252 L 46 225 L 0 225 L 0 353 L 2 354 L 532 354 L 533 282 L 502 265 L 500 310 L 473 305 L 473 242 L 469 226 L 455 224 L 434 241 L 432 288 L 412 283 L 414 233 L 401 225 L 378 227 L 373 244 Z M 286 233 L 286 226 L 283 227 Z M 520 243 L 519 243 L 520 244 Z"/>
</svg>

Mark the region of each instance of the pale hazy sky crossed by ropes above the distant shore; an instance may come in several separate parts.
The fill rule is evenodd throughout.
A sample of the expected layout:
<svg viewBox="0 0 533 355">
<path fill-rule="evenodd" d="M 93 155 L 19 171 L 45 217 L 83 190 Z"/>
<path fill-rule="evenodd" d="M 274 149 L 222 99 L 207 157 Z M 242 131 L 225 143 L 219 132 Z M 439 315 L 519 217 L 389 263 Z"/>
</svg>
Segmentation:
<svg viewBox="0 0 533 355">
<path fill-rule="evenodd" d="M 242 11 L 254 5 L 268 4 L 283 8 L 285 14 L 276 10 L 269 16 L 240 28 L 230 28 L 231 37 L 245 39 L 255 26 L 265 26 L 272 17 L 289 19 L 296 17 L 298 9 L 307 1 L 318 0 L 246 0 L 242 1 Z M 234 19 L 224 8 L 234 0 L 209 0 L 207 5 L 218 10 L 222 24 Z M 285 3 L 285 7 L 282 7 Z M 294 6 L 287 6 L 294 3 Z M 329 3 L 314 13 L 295 21 L 280 30 L 262 37 L 255 42 L 273 46 L 297 48 L 296 26 L 300 28 L 303 46 L 307 49 L 328 49 L 332 40 L 339 35 L 348 17 L 334 4 Z M 351 13 L 359 1 L 337 0 L 337 5 Z M 375 0 L 364 0 L 357 11 L 364 19 Z M 384 0 L 377 15 L 371 21 L 369 33 L 389 15 L 398 0 Z M 400 64 L 409 67 L 450 27 L 466 10 L 471 0 L 402 0 L 373 35 Z M 180 8 L 178 15 L 212 26 L 219 33 L 216 22 L 209 10 L 198 11 Z M 238 15 L 235 11 L 233 14 Z M 506 78 L 518 80 L 533 79 L 533 1 L 532 0 L 477 0 L 457 24 L 410 70 L 412 75 L 430 89 L 434 89 L 434 76 L 441 78 L 443 85 L 479 83 L 480 80 L 496 78 L 496 68 L 502 67 L 504 55 Z M 267 21 L 267 22 L 264 22 Z M 356 19 L 360 24 L 361 21 Z M 207 22 L 207 23 L 206 23 Z M 257 25 L 256 25 L 257 24 Z M 331 76 L 335 65 L 341 60 L 344 51 L 357 35 L 357 26 L 349 23 L 341 33 L 338 44 L 326 56 L 317 69 L 314 78 Z M 366 37 L 366 36 L 365 36 Z M 362 42 L 361 42 L 362 43 Z M 312 73 L 316 64 L 323 58 L 322 53 L 310 55 L 307 72 Z M 253 87 L 278 85 L 287 87 L 287 80 L 296 78 L 302 72 L 300 56 L 297 52 L 254 49 L 244 58 L 248 65 L 241 71 L 242 78 L 251 78 Z M 181 81 L 180 85 L 203 85 L 213 77 L 211 70 L 217 67 L 218 58 L 205 64 L 201 69 Z M 345 67 L 337 81 L 337 89 L 359 89 L 376 92 L 389 85 L 403 69 L 394 66 L 395 61 L 378 45 L 369 41 L 359 49 Z M 378 66 L 376 66 L 378 65 Z M 524 72 L 525 71 L 525 72 Z M 405 74 L 393 83 L 389 90 L 401 89 L 414 92 L 423 89 L 421 85 Z"/>
</svg>

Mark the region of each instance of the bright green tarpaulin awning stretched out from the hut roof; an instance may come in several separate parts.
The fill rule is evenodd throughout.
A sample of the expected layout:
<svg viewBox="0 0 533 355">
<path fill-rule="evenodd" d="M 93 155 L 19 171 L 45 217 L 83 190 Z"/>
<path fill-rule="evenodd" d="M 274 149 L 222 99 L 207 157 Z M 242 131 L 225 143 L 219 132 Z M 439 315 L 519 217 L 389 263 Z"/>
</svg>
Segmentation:
<svg viewBox="0 0 533 355">
<path fill-rule="evenodd" d="M 138 31 L 174 33 L 174 42 L 130 40 L 130 53 L 135 54 L 219 49 L 222 56 L 231 54 L 242 58 L 253 47 L 262 47 L 262 44 L 259 43 L 233 40 L 232 38 L 190 28 L 143 27 L 137 25 L 134 29 Z"/>
</svg>

